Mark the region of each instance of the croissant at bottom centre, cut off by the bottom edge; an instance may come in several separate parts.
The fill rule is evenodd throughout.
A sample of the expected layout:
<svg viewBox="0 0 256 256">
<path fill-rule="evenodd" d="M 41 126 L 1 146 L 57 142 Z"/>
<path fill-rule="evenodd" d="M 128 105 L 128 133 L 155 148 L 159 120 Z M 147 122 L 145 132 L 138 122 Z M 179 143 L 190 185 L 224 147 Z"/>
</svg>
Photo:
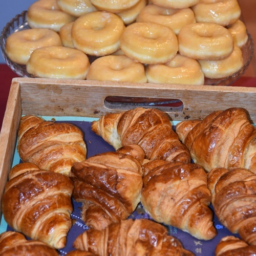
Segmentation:
<svg viewBox="0 0 256 256">
<path fill-rule="evenodd" d="M 164 226 L 151 220 L 123 220 L 103 230 L 89 229 L 80 234 L 73 246 L 99 256 L 194 255 L 168 236 Z"/>
</svg>

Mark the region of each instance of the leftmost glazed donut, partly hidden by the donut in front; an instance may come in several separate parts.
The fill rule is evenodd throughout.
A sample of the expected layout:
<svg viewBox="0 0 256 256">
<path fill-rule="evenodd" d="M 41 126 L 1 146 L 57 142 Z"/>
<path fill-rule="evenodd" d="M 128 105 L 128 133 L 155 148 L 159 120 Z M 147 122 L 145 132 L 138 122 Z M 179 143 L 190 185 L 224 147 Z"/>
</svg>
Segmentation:
<svg viewBox="0 0 256 256">
<path fill-rule="evenodd" d="M 57 32 L 50 29 L 26 29 L 9 35 L 6 39 L 7 56 L 20 65 L 26 65 L 31 53 L 44 46 L 61 46 Z"/>
</svg>

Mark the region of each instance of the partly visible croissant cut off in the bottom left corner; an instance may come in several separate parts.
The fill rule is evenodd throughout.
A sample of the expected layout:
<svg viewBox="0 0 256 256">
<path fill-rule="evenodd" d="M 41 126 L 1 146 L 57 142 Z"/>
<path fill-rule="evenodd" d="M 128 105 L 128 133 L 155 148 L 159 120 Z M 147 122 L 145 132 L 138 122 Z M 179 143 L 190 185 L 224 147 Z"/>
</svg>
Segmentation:
<svg viewBox="0 0 256 256">
<path fill-rule="evenodd" d="M 6 231 L 0 234 L 0 255 L 34 256 L 38 252 L 44 256 L 58 256 L 54 248 L 40 241 L 27 240 L 22 233 Z"/>
</svg>

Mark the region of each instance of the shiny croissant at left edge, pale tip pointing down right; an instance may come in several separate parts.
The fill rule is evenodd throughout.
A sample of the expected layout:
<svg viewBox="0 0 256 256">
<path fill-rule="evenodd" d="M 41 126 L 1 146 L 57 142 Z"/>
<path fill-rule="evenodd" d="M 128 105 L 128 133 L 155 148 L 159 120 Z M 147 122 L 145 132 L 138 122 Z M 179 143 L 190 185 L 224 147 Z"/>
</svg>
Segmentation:
<svg viewBox="0 0 256 256">
<path fill-rule="evenodd" d="M 63 248 L 72 226 L 73 187 L 66 175 L 41 170 L 32 163 L 17 164 L 5 186 L 3 216 L 15 231 Z"/>
</svg>

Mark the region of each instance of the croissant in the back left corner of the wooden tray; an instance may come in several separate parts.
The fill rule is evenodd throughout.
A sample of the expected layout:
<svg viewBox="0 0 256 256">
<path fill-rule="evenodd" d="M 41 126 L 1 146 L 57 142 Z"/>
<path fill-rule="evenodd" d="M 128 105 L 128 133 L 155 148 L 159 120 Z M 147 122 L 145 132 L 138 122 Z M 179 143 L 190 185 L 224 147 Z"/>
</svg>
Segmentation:
<svg viewBox="0 0 256 256">
<path fill-rule="evenodd" d="M 86 159 L 83 134 L 73 124 L 44 121 L 36 116 L 23 116 L 19 123 L 19 157 L 40 169 L 69 174 L 73 162 Z"/>
</svg>

